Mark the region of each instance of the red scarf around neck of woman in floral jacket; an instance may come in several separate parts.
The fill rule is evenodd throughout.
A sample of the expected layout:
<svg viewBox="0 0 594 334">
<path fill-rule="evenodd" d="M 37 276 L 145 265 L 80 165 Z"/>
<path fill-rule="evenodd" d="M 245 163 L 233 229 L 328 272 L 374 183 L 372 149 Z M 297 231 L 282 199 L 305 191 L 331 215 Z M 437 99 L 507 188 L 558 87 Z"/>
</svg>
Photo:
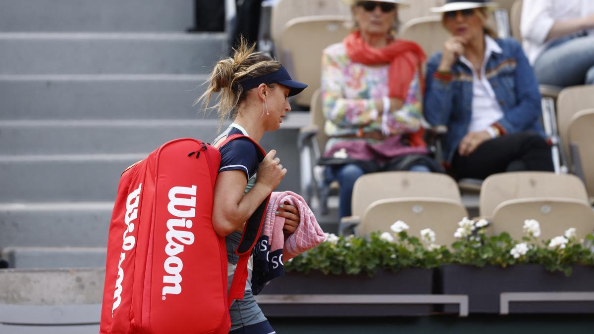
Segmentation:
<svg viewBox="0 0 594 334">
<path fill-rule="evenodd" d="M 410 82 L 419 71 L 421 92 L 425 90 L 425 80 L 421 72 L 421 65 L 425 62 L 425 52 L 421 47 L 407 40 L 393 40 L 386 47 L 377 49 L 369 46 L 362 38 L 359 31 L 354 31 L 345 37 L 346 54 L 353 62 L 365 65 L 389 63 L 388 90 L 389 96 L 406 101 Z M 426 146 L 422 139 L 422 129 L 411 133 L 410 141 L 413 146 Z"/>
</svg>

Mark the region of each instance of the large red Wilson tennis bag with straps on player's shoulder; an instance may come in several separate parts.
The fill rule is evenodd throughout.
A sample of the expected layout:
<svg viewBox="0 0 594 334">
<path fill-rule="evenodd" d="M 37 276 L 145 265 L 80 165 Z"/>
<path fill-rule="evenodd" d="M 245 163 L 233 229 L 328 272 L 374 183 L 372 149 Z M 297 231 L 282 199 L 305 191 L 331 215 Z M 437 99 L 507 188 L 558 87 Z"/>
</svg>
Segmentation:
<svg viewBox="0 0 594 334">
<path fill-rule="evenodd" d="M 240 137 L 249 138 L 232 135 L 222 145 Z M 229 332 L 229 307 L 243 298 L 269 198 L 245 224 L 228 293 L 225 238 L 212 224 L 219 164 L 216 148 L 184 138 L 122 173 L 109 225 L 100 333 Z"/>
</svg>

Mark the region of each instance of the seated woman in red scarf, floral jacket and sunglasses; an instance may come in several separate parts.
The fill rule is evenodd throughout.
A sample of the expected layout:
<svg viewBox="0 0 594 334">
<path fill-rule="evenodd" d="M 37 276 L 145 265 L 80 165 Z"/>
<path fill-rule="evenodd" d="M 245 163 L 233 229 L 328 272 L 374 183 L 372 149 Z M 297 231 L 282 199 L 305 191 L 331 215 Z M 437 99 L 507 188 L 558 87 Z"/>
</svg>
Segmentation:
<svg viewBox="0 0 594 334">
<path fill-rule="evenodd" d="M 322 56 L 326 181 L 340 183 L 339 218 L 351 215 L 353 185 L 365 173 L 441 171 L 421 131 L 418 44 L 396 39 L 399 0 L 353 1 L 355 31 Z"/>
</svg>

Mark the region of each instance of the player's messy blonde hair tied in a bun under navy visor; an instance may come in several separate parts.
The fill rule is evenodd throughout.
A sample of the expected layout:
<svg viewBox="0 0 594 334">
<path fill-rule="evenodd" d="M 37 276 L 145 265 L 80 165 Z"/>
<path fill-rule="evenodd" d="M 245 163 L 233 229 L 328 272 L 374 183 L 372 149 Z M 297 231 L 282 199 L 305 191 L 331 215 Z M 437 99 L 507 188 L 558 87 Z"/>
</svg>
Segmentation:
<svg viewBox="0 0 594 334">
<path fill-rule="evenodd" d="M 208 109 L 216 109 L 219 114 L 220 124 L 225 119 L 237 116 L 237 107 L 247 98 L 248 91 L 244 91 L 239 81 L 247 78 L 260 77 L 261 75 L 277 71 L 281 64 L 270 56 L 261 52 L 254 52 L 255 43 L 248 46 L 247 41 L 242 37 L 239 47 L 233 48 L 233 56 L 220 59 L 214 65 L 208 80 L 208 88 L 194 103 L 200 102 L 204 105 L 204 112 Z M 274 88 L 274 84 L 268 84 Z M 220 93 L 217 103 L 208 107 L 210 98 L 214 93 Z"/>
</svg>

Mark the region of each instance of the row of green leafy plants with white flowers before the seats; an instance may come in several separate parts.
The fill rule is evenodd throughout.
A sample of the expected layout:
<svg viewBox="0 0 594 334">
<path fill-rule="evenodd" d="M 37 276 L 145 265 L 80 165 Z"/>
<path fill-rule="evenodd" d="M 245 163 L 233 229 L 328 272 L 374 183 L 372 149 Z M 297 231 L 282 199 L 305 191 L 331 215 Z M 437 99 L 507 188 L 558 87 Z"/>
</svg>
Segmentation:
<svg viewBox="0 0 594 334">
<path fill-rule="evenodd" d="M 565 231 L 564 236 L 540 242 L 540 225 L 535 220 L 525 221 L 522 240 L 513 240 L 508 233 L 488 236 L 485 220 L 475 222 L 464 218 L 458 225 L 454 234 L 457 240 L 450 248 L 435 244 L 435 233 L 428 228 L 421 231 L 421 239 L 409 236 L 409 227 L 402 221 L 394 222 L 391 232 L 375 232 L 366 238 L 327 234 L 326 241 L 319 246 L 287 261 L 285 269 L 334 275 L 364 272 L 372 276 L 380 268 L 396 272 L 403 268 L 431 269 L 448 263 L 478 267 L 533 263 L 543 265 L 548 271 L 571 275 L 573 265 L 594 265 L 594 253 L 584 246 L 592 244 L 594 236 L 577 240 L 575 228 Z"/>
</svg>

